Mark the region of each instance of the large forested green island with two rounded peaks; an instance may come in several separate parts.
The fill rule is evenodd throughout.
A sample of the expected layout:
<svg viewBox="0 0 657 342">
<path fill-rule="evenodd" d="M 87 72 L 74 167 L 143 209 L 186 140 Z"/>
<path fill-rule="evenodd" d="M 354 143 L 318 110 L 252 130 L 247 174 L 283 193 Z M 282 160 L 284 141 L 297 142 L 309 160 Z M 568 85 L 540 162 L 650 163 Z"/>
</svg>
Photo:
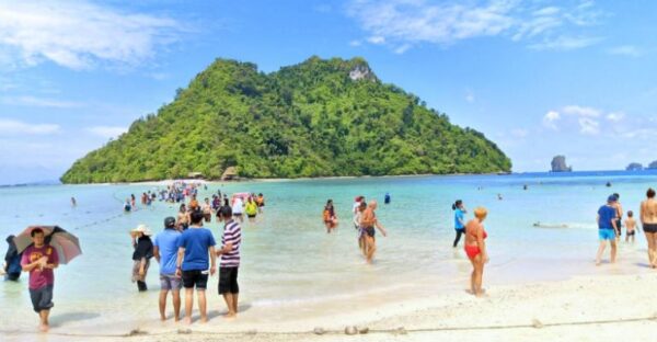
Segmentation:
<svg viewBox="0 0 657 342">
<path fill-rule="evenodd" d="M 485 136 L 383 83 L 362 58 L 265 73 L 217 59 L 173 102 L 79 159 L 64 183 L 509 172 Z"/>
</svg>

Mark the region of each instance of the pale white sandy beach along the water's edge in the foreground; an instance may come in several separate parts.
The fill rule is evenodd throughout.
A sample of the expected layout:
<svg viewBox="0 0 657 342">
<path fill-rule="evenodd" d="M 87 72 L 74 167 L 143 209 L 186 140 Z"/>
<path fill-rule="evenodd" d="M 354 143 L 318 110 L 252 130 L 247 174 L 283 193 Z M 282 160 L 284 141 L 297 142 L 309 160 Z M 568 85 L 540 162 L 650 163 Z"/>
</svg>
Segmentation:
<svg viewBox="0 0 657 342">
<path fill-rule="evenodd" d="M 603 265 L 613 267 L 614 265 Z M 126 327 L 95 335 L 55 327 L 7 333 L 5 341 L 650 341 L 657 331 L 657 271 L 637 275 L 578 277 L 487 289 L 488 297 L 446 293 L 372 309 L 345 307 L 342 315 L 253 324 L 212 318 L 191 327 L 173 322 Z M 385 299 L 381 298 L 383 303 Z M 368 328 L 347 335 L 346 326 Z M 326 332 L 315 334 L 321 327 Z M 130 330 L 139 330 L 129 335 Z M 183 335 L 181 335 L 183 333 Z"/>
</svg>

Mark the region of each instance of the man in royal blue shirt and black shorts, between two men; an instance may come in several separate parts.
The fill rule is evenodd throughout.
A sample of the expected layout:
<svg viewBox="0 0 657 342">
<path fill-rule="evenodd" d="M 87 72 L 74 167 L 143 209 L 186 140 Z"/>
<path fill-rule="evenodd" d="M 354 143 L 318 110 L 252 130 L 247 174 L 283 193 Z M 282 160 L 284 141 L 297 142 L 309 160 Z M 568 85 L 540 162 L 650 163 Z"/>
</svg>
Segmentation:
<svg viewBox="0 0 657 342">
<path fill-rule="evenodd" d="M 217 242 L 215 242 L 212 232 L 203 228 L 203 212 L 192 212 L 189 216 L 192 226 L 189 226 L 189 229 L 183 231 L 178 240 L 175 270 L 175 274 L 183 277 L 183 287 L 185 287 L 185 322 L 187 324 L 192 323 L 195 286 L 198 296 L 200 321 L 208 321 L 205 290 L 208 287 L 208 273 L 215 275 L 217 272 L 217 254 L 215 251 Z"/>
</svg>

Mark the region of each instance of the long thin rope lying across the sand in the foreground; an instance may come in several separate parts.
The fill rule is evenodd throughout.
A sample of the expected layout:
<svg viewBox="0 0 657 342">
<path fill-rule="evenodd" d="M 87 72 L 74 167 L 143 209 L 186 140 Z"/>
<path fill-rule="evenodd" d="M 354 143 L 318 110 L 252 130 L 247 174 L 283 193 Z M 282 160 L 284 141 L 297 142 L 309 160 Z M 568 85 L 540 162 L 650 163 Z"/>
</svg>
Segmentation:
<svg viewBox="0 0 657 342">
<path fill-rule="evenodd" d="M 508 324 L 508 326 L 480 326 L 480 327 L 435 327 L 435 328 L 415 328 L 405 329 L 403 327 L 396 329 L 368 329 L 366 333 L 355 334 L 369 334 L 369 333 L 389 333 L 389 334 L 406 334 L 406 333 L 423 333 L 423 332 L 440 332 L 440 331 L 476 331 L 476 330 L 509 330 L 509 329 L 543 329 L 554 327 L 567 327 L 567 326 L 592 326 L 592 324 L 612 324 L 612 323 L 631 323 L 642 321 L 655 321 L 657 322 L 657 314 L 646 317 L 636 318 L 623 318 L 623 319 L 603 319 L 603 320 L 590 320 L 590 321 L 572 321 L 572 322 L 554 322 L 554 323 L 541 323 L 534 320 L 528 324 Z M 361 327 L 365 328 L 365 327 Z M 35 334 L 37 332 L 27 331 L 11 331 L 0 330 L 2 334 Z M 310 331 L 192 331 L 189 329 L 178 329 L 176 331 L 162 331 L 149 333 L 140 329 L 135 329 L 128 333 L 120 334 L 94 334 L 94 333 L 69 333 L 69 332 L 50 332 L 49 335 L 58 337 L 71 337 L 71 338 L 132 338 L 132 337 L 158 337 L 158 335 L 171 335 L 171 334 L 205 334 L 205 335 L 324 335 L 324 334 L 345 334 L 344 330 L 322 330 L 321 333 Z"/>
</svg>

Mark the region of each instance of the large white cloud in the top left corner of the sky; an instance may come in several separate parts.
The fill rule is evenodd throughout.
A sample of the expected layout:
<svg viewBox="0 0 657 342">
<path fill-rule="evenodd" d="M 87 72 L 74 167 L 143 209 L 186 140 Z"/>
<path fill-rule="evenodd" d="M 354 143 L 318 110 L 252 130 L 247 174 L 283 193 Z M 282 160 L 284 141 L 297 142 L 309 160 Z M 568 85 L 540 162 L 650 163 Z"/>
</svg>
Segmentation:
<svg viewBox="0 0 657 342">
<path fill-rule="evenodd" d="M 135 66 L 183 31 L 174 20 L 125 13 L 88 1 L 0 0 L 0 52 L 14 64 L 50 60 L 80 70 L 100 62 Z"/>
</svg>

